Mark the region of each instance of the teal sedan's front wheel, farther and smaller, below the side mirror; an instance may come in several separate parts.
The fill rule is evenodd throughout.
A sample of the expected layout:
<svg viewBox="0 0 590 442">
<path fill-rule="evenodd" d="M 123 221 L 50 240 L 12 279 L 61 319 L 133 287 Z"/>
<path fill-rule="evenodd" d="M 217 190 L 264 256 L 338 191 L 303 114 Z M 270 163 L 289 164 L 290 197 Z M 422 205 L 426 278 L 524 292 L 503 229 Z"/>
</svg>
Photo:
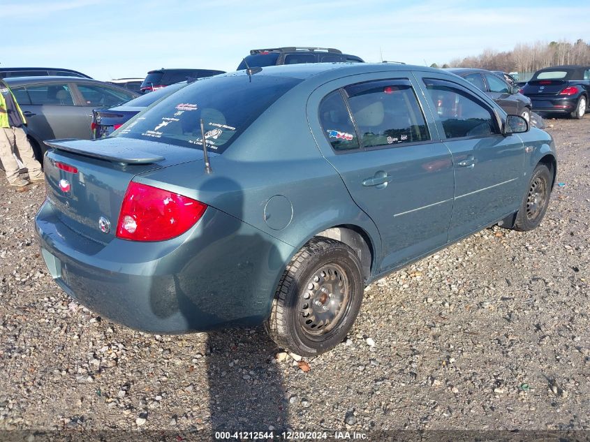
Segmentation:
<svg viewBox="0 0 590 442">
<path fill-rule="evenodd" d="M 538 227 L 549 206 L 552 182 L 553 177 L 547 166 L 538 164 L 533 170 L 529 186 L 522 198 L 513 226 L 514 230 L 526 232 Z"/>
</svg>

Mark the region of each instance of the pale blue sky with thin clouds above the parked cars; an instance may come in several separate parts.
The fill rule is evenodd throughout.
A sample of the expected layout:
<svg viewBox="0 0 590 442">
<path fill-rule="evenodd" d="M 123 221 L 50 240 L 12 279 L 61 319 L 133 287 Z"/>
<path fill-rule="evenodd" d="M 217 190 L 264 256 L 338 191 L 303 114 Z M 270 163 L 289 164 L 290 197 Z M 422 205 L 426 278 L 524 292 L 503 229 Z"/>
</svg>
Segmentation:
<svg viewBox="0 0 590 442">
<path fill-rule="evenodd" d="M 443 64 L 517 43 L 590 41 L 587 17 L 590 2 L 569 0 L 0 0 L 0 66 L 143 78 L 157 68 L 234 71 L 251 49 L 296 45 Z"/>
</svg>

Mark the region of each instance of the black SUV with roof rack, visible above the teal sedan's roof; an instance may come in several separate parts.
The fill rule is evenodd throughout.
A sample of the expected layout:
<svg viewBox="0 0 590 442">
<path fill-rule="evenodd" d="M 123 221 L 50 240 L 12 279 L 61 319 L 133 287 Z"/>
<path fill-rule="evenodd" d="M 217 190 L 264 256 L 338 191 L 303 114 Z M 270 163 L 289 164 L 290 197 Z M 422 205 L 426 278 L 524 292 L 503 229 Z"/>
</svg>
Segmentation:
<svg viewBox="0 0 590 442">
<path fill-rule="evenodd" d="M 363 59 L 356 55 L 343 54 L 342 51 L 331 47 L 274 47 L 251 50 L 250 55 L 237 66 L 237 71 L 278 64 L 332 63 L 334 61 L 364 63 Z"/>
</svg>

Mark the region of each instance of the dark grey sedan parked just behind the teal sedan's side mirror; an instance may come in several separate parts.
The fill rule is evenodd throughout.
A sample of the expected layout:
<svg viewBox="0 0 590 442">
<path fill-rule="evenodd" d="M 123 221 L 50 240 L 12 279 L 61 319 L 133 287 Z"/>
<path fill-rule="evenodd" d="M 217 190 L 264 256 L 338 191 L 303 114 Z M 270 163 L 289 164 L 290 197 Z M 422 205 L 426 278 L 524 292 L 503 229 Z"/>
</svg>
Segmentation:
<svg viewBox="0 0 590 442">
<path fill-rule="evenodd" d="M 491 71 L 474 68 L 448 68 L 447 71 L 459 75 L 484 91 L 506 113 L 520 115 L 526 121 L 531 119 L 531 108 L 533 107 L 531 99 L 520 94 L 518 87 L 508 84 Z"/>
</svg>

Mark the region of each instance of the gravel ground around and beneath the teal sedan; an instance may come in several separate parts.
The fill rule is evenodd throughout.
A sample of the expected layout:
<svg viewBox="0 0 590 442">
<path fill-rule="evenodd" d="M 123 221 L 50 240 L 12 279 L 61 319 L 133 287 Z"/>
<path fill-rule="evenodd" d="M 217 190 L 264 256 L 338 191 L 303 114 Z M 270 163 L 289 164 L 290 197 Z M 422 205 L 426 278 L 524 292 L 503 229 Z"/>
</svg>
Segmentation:
<svg viewBox="0 0 590 442">
<path fill-rule="evenodd" d="M 565 186 L 540 228 L 371 284 L 346 342 L 299 364 L 261 328 L 158 336 L 84 309 L 40 258 L 43 186 L 1 178 L 0 429 L 589 430 L 590 117 L 547 124 Z"/>
</svg>

